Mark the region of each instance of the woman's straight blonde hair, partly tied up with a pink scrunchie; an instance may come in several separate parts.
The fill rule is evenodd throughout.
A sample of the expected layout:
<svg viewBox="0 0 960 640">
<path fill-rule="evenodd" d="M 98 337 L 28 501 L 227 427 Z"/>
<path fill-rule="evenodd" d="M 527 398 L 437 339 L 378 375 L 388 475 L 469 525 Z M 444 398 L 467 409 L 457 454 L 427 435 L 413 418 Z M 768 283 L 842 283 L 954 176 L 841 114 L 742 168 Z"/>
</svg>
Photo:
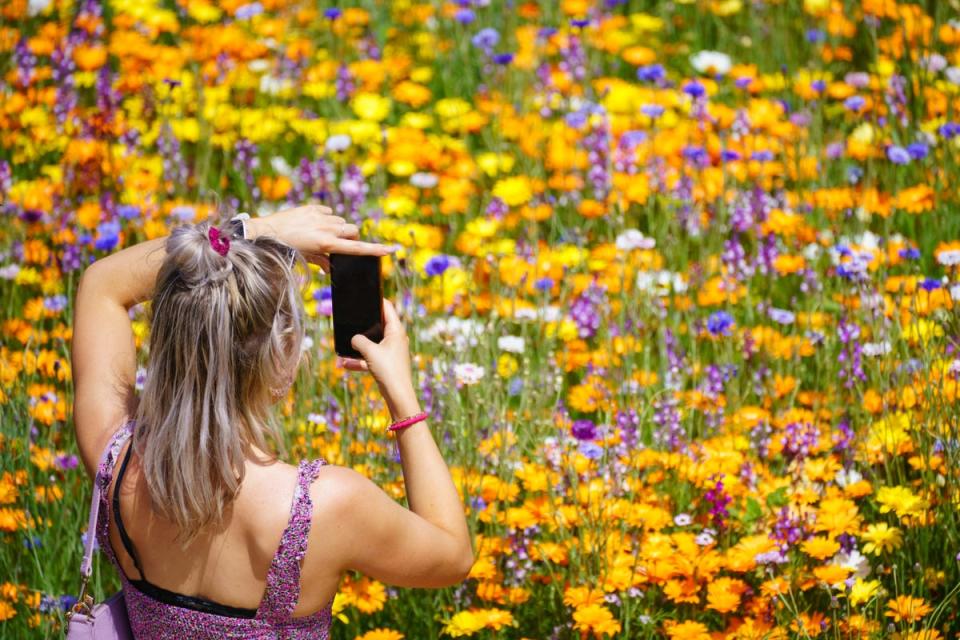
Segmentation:
<svg viewBox="0 0 960 640">
<path fill-rule="evenodd" d="M 222 522 L 249 445 L 285 449 L 271 411 L 304 338 L 303 257 L 268 236 L 211 246 L 209 223 L 173 230 L 157 274 L 134 447 L 154 508 L 184 544 Z"/>
</svg>

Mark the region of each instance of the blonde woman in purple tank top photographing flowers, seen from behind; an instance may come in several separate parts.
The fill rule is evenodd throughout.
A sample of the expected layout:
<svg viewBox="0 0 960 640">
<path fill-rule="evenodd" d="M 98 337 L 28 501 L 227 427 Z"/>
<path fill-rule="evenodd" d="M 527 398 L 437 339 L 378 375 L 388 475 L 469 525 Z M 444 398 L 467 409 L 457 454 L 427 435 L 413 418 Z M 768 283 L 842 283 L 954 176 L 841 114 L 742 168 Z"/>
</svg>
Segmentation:
<svg viewBox="0 0 960 640">
<path fill-rule="evenodd" d="M 179 227 L 81 278 L 77 441 L 103 488 L 97 535 L 137 638 L 326 638 L 344 571 L 401 587 L 450 586 L 470 571 L 464 507 L 426 422 L 392 432 L 409 510 L 349 468 L 276 459 L 271 405 L 294 379 L 304 335 L 296 265 L 389 253 L 329 214 L 304 206 L 252 219 L 247 239 Z M 149 298 L 138 397 L 128 310 Z M 389 301 L 384 317 L 383 341 L 355 336 L 363 360 L 343 364 L 369 371 L 401 420 L 420 405 Z"/>
</svg>

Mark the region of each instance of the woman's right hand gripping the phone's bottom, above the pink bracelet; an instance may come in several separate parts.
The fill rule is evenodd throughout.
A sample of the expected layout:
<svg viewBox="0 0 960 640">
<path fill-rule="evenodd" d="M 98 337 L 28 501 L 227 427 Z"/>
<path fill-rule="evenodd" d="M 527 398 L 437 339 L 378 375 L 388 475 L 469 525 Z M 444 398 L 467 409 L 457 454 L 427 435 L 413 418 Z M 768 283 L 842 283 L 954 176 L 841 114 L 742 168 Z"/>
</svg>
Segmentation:
<svg viewBox="0 0 960 640">
<path fill-rule="evenodd" d="M 373 342 L 364 335 L 353 336 L 350 344 L 363 360 L 340 358 L 345 369 L 373 374 L 394 419 L 420 412 L 410 371 L 410 339 L 393 303 L 383 300 L 383 340 Z"/>
</svg>

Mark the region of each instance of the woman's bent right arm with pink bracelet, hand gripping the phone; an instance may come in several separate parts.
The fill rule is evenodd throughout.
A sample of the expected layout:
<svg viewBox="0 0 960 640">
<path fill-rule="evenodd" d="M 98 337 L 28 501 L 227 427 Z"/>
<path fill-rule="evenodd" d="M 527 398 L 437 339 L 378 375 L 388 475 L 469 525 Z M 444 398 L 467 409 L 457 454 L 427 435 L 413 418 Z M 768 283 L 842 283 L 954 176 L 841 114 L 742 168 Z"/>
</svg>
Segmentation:
<svg viewBox="0 0 960 640">
<path fill-rule="evenodd" d="M 410 375 L 409 342 L 397 312 L 384 300 L 384 338 L 377 344 L 355 336 L 364 357 L 348 361 L 370 371 L 394 420 L 420 412 Z M 445 587 L 466 579 L 474 563 L 464 505 L 427 422 L 390 434 L 397 438 L 410 508 L 406 509 L 364 475 L 330 467 L 314 484 L 343 535 L 317 544 L 353 569 L 400 587 Z M 331 549 L 331 544 L 336 545 Z"/>
</svg>

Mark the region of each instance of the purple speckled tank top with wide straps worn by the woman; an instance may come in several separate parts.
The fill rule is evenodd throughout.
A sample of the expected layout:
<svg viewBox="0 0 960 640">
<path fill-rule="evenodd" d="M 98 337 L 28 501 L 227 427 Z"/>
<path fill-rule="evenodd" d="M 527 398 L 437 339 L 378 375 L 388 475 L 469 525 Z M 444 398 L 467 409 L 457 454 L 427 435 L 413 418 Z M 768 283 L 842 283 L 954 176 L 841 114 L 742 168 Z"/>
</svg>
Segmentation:
<svg viewBox="0 0 960 640">
<path fill-rule="evenodd" d="M 127 605 L 130 627 L 138 640 L 170 639 L 204 640 L 206 638 L 310 638 L 326 640 L 330 634 L 333 603 L 308 616 L 293 617 L 300 597 L 300 563 L 307 550 L 313 504 L 309 487 L 323 458 L 302 460 L 298 470 L 297 488 L 290 509 L 290 521 L 280 538 L 267 572 L 267 588 L 256 609 L 242 609 L 203 598 L 174 593 L 146 580 L 132 542 L 117 522 L 117 529 L 127 553 L 140 572 L 139 580 L 131 580 L 124 573 L 110 543 L 110 517 L 119 513 L 116 499 L 107 499 L 108 489 L 123 444 L 133 434 L 133 422 L 121 427 L 107 445 L 109 454 L 97 470 L 100 484 L 100 514 L 97 519 L 97 542 L 120 574 L 123 598 Z M 129 448 L 127 450 L 129 454 Z M 127 456 L 129 457 L 129 456 Z M 126 459 L 123 467 L 126 466 Z M 123 468 L 121 468 L 121 473 Z M 116 496 L 115 496 L 116 498 Z M 112 504 L 111 504 L 112 502 Z M 116 518 L 116 515 L 113 515 Z"/>
</svg>

